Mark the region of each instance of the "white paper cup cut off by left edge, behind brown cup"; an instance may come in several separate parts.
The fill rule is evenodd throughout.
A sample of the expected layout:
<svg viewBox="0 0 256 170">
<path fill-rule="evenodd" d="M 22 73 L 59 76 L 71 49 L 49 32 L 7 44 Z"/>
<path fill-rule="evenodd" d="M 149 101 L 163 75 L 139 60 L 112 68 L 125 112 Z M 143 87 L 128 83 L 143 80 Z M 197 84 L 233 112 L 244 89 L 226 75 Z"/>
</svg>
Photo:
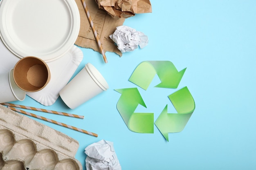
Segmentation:
<svg viewBox="0 0 256 170">
<path fill-rule="evenodd" d="M 20 89 L 13 79 L 13 69 L 9 73 L 0 74 L 0 103 L 23 101 L 26 92 Z"/>
</svg>

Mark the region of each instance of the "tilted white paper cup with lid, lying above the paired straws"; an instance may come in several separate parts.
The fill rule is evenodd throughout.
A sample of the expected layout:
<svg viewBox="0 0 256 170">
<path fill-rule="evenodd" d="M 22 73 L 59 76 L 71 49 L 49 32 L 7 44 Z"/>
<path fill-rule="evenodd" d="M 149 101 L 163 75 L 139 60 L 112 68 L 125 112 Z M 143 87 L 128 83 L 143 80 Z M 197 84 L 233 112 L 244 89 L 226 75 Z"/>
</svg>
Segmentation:
<svg viewBox="0 0 256 170">
<path fill-rule="evenodd" d="M 60 96 L 69 108 L 74 109 L 108 88 L 108 83 L 101 73 L 92 64 L 87 63 L 60 91 Z"/>
</svg>

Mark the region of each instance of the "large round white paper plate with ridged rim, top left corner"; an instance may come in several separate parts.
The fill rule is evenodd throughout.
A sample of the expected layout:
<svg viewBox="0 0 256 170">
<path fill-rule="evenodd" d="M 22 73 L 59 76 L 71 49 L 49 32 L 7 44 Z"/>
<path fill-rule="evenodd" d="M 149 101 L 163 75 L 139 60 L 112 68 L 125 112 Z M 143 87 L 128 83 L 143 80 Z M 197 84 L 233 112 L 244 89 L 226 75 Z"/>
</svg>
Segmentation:
<svg viewBox="0 0 256 170">
<path fill-rule="evenodd" d="M 45 62 L 71 49 L 80 29 L 75 0 L 1 0 L 0 37 L 18 57 Z"/>
</svg>

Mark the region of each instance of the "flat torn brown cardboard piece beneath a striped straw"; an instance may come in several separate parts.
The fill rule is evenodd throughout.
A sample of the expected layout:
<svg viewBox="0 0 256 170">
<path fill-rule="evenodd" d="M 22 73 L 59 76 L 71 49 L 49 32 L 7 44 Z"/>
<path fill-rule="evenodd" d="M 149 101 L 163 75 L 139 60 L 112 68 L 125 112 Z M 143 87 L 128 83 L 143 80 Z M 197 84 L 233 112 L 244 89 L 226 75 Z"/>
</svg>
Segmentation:
<svg viewBox="0 0 256 170">
<path fill-rule="evenodd" d="M 81 0 L 75 0 L 79 8 L 80 13 L 80 31 L 75 44 L 83 48 L 90 48 L 99 52 L 97 41 L 92 32 L 90 22 L 87 18 L 83 4 Z M 94 23 L 95 29 L 99 35 L 99 39 L 103 46 L 104 51 L 115 52 L 120 57 L 121 51 L 117 49 L 115 43 L 109 38 L 109 35 L 114 33 L 117 26 L 121 26 L 124 23 L 124 18 L 112 18 L 106 11 L 99 9 L 97 3 L 94 0 L 85 0 L 88 11 Z M 108 56 L 107 56 L 108 57 Z"/>
</svg>

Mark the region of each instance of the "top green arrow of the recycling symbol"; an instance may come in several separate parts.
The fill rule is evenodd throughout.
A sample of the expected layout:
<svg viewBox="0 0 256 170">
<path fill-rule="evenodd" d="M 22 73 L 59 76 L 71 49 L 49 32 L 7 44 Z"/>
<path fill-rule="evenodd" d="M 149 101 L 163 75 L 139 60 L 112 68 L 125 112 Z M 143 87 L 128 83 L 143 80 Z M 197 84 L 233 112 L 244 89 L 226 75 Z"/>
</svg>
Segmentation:
<svg viewBox="0 0 256 170">
<path fill-rule="evenodd" d="M 161 83 L 155 87 L 177 88 L 186 68 L 178 72 L 170 61 L 144 61 L 133 71 L 129 81 L 146 90 L 157 74 Z"/>
</svg>

